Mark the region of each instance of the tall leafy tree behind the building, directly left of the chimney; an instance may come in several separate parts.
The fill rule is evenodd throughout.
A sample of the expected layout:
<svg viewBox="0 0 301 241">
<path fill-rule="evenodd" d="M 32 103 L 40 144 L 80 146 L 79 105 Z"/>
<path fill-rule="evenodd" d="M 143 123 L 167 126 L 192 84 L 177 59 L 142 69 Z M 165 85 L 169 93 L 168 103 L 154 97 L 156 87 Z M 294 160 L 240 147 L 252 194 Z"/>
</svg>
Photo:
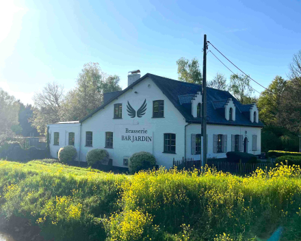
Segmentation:
<svg viewBox="0 0 301 241">
<path fill-rule="evenodd" d="M 107 75 L 98 63 L 88 63 L 77 78 L 77 86 L 66 94 L 60 116 L 64 121 L 78 121 L 103 103 L 103 93 L 121 90 L 117 75 Z"/>
</svg>

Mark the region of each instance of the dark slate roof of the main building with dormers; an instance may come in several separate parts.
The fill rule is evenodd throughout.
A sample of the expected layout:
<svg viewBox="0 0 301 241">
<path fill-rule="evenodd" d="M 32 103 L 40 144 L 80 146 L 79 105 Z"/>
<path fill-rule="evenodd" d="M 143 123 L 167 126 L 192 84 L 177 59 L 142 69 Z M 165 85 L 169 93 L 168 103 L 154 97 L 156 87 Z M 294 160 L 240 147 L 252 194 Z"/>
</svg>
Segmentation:
<svg viewBox="0 0 301 241">
<path fill-rule="evenodd" d="M 114 99 L 118 98 L 121 94 L 127 92 L 127 90 L 129 90 L 130 88 L 133 88 L 133 86 L 143 81 L 143 79 L 145 79 L 146 77 L 149 77 L 154 81 L 154 83 L 160 88 L 163 94 L 165 94 L 166 97 L 168 97 L 168 99 L 172 102 L 174 107 L 176 107 L 176 109 L 179 110 L 179 112 L 184 116 L 187 123 L 200 123 L 200 118 L 194 118 L 194 116 L 192 116 L 192 108 L 191 105 L 187 103 L 187 101 L 190 97 L 193 98 L 194 95 L 197 94 L 197 92 L 202 92 L 202 86 L 198 84 L 177 81 L 174 79 L 168 79 L 166 77 L 161 77 L 150 73 L 147 73 L 146 75 L 142 76 L 129 87 L 125 88 L 125 90 L 118 92 L 106 103 L 94 110 L 94 112 L 83 118 L 81 122 L 85 121 L 87 118 L 91 117 L 93 114 L 103 109 L 106 105 L 114 101 Z M 224 112 L 215 110 L 215 105 L 220 107 L 222 103 L 225 104 L 229 98 L 233 100 L 233 103 L 238 109 L 235 112 L 235 121 L 227 121 L 226 118 L 224 118 Z M 235 99 L 233 95 L 230 94 L 228 91 L 207 88 L 208 124 L 263 127 L 263 123 L 261 123 L 260 121 L 259 123 L 251 123 L 250 118 L 248 118 L 245 114 L 241 113 L 241 109 L 248 111 L 250 110 L 250 107 L 251 105 L 249 107 L 247 107 L 246 105 L 241 105 L 241 103 L 239 103 L 239 101 L 237 101 L 237 99 Z"/>
</svg>

